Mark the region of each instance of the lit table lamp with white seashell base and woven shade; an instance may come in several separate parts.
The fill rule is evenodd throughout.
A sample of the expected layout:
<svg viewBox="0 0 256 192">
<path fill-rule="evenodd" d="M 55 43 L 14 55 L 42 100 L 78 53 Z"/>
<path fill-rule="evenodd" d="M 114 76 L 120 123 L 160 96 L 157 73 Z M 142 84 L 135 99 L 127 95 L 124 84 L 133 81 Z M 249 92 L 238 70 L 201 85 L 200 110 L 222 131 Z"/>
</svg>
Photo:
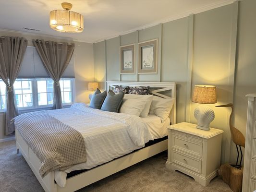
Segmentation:
<svg viewBox="0 0 256 192">
<path fill-rule="evenodd" d="M 192 101 L 201 104 L 216 103 L 216 86 L 195 85 Z M 195 108 L 194 116 L 197 120 L 196 128 L 206 131 L 210 130 L 210 123 L 215 118 L 212 108 L 207 105 L 199 105 Z"/>
</svg>

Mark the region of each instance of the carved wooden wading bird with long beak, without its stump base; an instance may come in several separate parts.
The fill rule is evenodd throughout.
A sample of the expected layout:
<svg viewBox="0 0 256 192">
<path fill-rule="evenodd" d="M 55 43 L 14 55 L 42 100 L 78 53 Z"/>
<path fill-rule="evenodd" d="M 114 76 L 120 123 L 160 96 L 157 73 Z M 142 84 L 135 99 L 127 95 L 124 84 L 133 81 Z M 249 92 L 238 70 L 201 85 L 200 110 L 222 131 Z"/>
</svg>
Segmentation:
<svg viewBox="0 0 256 192">
<path fill-rule="evenodd" d="M 238 129 L 236 129 L 234 126 L 232 126 L 233 104 L 229 103 L 227 105 L 219 105 L 216 107 L 231 108 L 231 114 L 230 114 L 230 118 L 229 118 L 229 126 L 230 126 L 230 132 L 231 132 L 231 139 L 234 142 L 234 144 L 236 146 L 236 151 L 237 151 L 236 164 L 231 165 L 231 166 L 234 168 L 237 168 L 237 169 L 241 168 L 241 163 L 242 163 L 242 159 L 243 159 L 243 152 L 242 152 L 241 146 L 245 147 L 245 138 L 244 138 L 244 135 L 242 132 L 240 132 Z M 238 146 L 240 148 L 240 153 L 241 153 L 241 159 L 240 159 L 239 165 L 238 165 L 238 159 L 239 159 Z"/>
</svg>

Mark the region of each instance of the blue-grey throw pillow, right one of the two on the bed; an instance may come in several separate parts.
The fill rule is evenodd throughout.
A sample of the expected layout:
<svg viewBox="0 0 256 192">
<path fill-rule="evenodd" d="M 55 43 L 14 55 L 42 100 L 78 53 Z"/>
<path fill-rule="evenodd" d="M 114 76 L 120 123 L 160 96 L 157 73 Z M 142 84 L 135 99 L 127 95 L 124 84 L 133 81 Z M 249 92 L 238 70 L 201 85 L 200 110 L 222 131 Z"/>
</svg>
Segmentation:
<svg viewBox="0 0 256 192">
<path fill-rule="evenodd" d="M 118 113 L 122 104 L 123 96 L 123 92 L 115 94 L 112 90 L 109 90 L 109 93 L 106 96 L 106 99 L 104 100 L 100 110 Z"/>
</svg>

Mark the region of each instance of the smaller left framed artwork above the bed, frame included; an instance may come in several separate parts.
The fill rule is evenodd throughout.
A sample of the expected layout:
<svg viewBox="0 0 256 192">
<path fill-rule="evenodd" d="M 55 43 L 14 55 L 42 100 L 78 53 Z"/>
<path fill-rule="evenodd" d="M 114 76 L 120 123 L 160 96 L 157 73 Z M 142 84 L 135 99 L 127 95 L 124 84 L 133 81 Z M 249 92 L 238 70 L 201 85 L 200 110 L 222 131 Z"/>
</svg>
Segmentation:
<svg viewBox="0 0 256 192">
<path fill-rule="evenodd" d="M 120 73 L 135 73 L 135 44 L 120 47 Z"/>
</svg>

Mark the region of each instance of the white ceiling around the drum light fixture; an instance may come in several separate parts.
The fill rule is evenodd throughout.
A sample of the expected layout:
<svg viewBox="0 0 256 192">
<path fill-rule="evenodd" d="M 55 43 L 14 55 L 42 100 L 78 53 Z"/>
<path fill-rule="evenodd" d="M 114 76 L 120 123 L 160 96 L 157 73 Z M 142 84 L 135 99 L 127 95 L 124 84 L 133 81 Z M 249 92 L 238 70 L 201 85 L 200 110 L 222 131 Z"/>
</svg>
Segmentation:
<svg viewBox="0 0 256 192">
<path fill-rule="evenodd" d="M 0 28 L 38 34 L 71 37 L 98 42 L 232 3 L 233 0 L 0 0 Z M 50 29 L 49 12 L 73 4 L 72 11 L 84 15 L 82 33 L 61 33 Z"/>
</svg>

